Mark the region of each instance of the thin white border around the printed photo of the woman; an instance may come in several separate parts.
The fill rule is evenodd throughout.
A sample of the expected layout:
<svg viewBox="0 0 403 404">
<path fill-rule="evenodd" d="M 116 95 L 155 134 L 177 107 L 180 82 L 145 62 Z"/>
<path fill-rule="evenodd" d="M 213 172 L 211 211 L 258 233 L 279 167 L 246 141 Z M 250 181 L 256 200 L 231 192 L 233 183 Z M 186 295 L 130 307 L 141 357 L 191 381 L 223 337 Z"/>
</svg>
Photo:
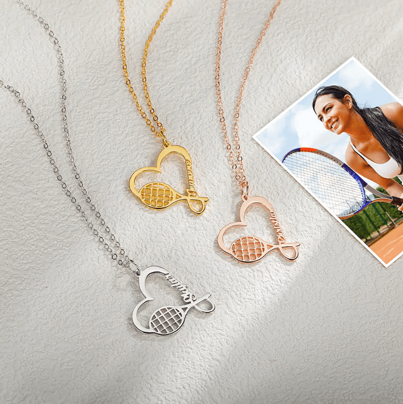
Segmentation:
<svg viewBox="0 0 403 404">
<path fill-rule="evenodd" d="M 337 67 L 332 73 L 330 73 L 328 76 L 326 76 L 322 81 L 320 81 L 318 84 L 316 84 L 315 86 L 312 87 L 311 90 L 307 91 L 302 97 L 300 97 L 297 101 L 295 101 L 293 104 L 291 104 L 286 110 L 284 110 L 282 113 L 280 113 L 279 115 L 277 115 L 274 119 L 272 119 L 267 125 L 265 125 L 262 129 L 260 129 L 259 131 L 257 131 L 254 135 L 253 135 L 253 139 L 263 147 L 264 150 L 266 150 L 267 153 L 269 153 L 269 155 L 276 161 L 278 162 L 284 169 L 285 171 L 291 175 L 292 178 L 294 178 L 301 186 L 304 190 L 306 190 L 309 194 L 311 194 L 318 202 L 320 205 L 323 206 L 323 208 L 325 208 L 325 210 L 327 212 L 329 212 L 339 223 L 341 223 L 342 226 L 344 226 L 353 236 L 356 240 L 358 240 L 376 259 L 378 259 L 384 266 L 385 268 L 387 268 L 389 265 L 391 265 L 393 262 L 395 262 L 398 258 L 400 258 L 403 255 L 403 250 L 402 252 L 397 255 L 394 259 L 390 260 L 388 263 L 386 263 L 383 259 L 381 259 L 380 257 L 378 257 L 376 255 L 376 253 L 374 251 L 372 251 L 369 246 L 363 242 L 354 232 L 353 230 L 350 229 L 350 227 L 348 227 L 347 225 L 345 225 L 343 223 L 343 221 L 341 219 L 339 219 L 334 213 L 330 212 L 324 205 L 323 203 L 314 195 L 312 194 L 312 192 L 309 191 L 309 189 L 307 189 L 304 185 L 302 185 L 302 182 L 293 175 L 293 173 L 288 170 L 287 167 L 285 167 L 285 165 L 273 154 L 271 154 L 271 152 L 257 139 L 257 136 L 263 132 L 266 128 L 268 128 L 271 124 L 273 124 L 275 121 L 277 121 L 282 115 L 284 115 L 285 113 L 287 113 L 289 110 L 291 110 L 292 108 L 294 108 L 300 101 L 302 101 L 302 99 L 304 99 L 305 97 L 307 97 L 309 94 L 311 94 L 314 89 L 318 88 L 321 84 L 323 84 L 325 81 L 329 80 L 333 75 L 335 75 L 339 70 L 341 70 L 345 65 L 347 65 L 348 63 L 350 63 L 351 61 L 356 62 L 358 65 L 360 65 L 360 67 L 362 67 L 363 69 L 365 69 L 368 74 L 370 75 L 370 77 L 372 77 L 372 79 L 374 81 L 376 81 L 390 96 L 394 97 L 398 102 L 400 102 L 401 105 L 403 105 L 403 102 L 399 99 L 399 97 L 396 97 L 391 91 L 389 91 L 384 84 L 382 84 L 381 81 L 379 81 L 364 65 L 362 65 L 360 62 L 358 62 L 358 60 L 352 56 L 350 59 L 348 59 L 346 62 L 344 62 L 342 65 L 340 65 L 339 67 Z M 298 147 L 298 146 L 296 146 Z M 403 226 L 403 225 L 402 225 Z"/>
</svg>

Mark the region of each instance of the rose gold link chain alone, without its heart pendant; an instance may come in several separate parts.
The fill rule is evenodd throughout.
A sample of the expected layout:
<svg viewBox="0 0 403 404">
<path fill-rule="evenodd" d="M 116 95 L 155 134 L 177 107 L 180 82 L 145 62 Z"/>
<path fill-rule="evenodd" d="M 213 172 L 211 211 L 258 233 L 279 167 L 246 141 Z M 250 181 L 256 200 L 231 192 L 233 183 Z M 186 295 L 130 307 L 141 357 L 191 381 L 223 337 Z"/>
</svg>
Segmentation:
<svg viewBox="0 0 403 404">
<path fill-rule="evenodd" d="M 245 89 L 245 84 L 246 80 L 248 79 L 249 72 L 251 71 L 251 67 L 253 64 L 253 59 L 256 55 L 257 49 L 259 48 L 263 37 L 266 34 L 266 31 L 269 29 L 270 22 L 273 19 L 274 13 L 277 10 L 277 7 L 280 5 L 282 0 L 277 0 L 276 3 L 274 4 L 273 8 L 271 9 L 269 18 L 266 21 L 265 28 L 260 32 L 260 36 L 258 40 L 256 41 L 256 45 L 254 49 L 252 50 L 252 55 L 251 58 L 249 59 L 248 66 L 245 69 L 245 74 L 242 78 L 242 83 L 241 86 L 239 87 L 239 94 L 238 94 L 238 100 L 236 102 L 236 107 L 235 107 L 235 124 L 234 124 L 234 140 L 235 140 L 235 149 L 237 153 L 237 162 L 235 162 L 235 157 L 234 153 L 232 151 L 231 143 L 228 138 L 228 130 L 227 126 L 225 124 L 225 119 L 224 119 L 224 111 L 222 109 L 222 99 L 221 99 L 221 90 L 220 90 L 220 83 L 219 83 L 219 75 L 220 75 L 220 62 L 221 62 L 221 45 L 222 45 L 222 31 L 223 31 L 223 26 L 224 26 L 224 16 L 225 16 L 225 9 L 227 6 L 227 0 L 222 1 L 222 9 L 221 9 L 221 16 L 219 19 L 219 31 L 218 31 L 218 45 L 217 45 L 217 61 L 216 61 L 216 90 L 217 90 L 217 98 L 218 98 L 218 113 L 220 116 L 220 122 L 222 125 L 222 131 L 224 133 L 224 140 L 225 143 L 227 144 L 227 149 L 230 154 L 230 161 L 232 163 L 232 169 L 235 173 L 235 179 L 238 181 L 238 186 L 241 188 L 242 191 L 242 200 L 248 199 L 248 194 L 249 194 L 249 185 L 248 181 L 245 178 L 245 170 L 243 168 L 243 162 L 242 162 L 242 156 L 241 156 L 241 147 L 239 145 L 239 113 L 241 111 L 241 102 L 242 102 L 242 93 L 243 90 Z"/>
</svg>

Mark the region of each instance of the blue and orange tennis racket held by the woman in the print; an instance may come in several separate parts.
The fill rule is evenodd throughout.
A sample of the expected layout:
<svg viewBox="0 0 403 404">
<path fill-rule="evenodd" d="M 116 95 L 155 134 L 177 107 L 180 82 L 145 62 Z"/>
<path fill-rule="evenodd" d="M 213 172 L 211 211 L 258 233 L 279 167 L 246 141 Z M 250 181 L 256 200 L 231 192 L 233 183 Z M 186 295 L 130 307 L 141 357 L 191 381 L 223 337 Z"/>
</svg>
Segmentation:
<svg viewBox="0 0 403 404">
<path fill-rule="evenodd" d="M 322 150 L 299 147 L 289 151 L 282 163 L 330 212 L 347 219 L 373 202 L 396 206 L 403 199 L 377 191 L 346 163 Z M 378 196 L 368 200 L 365 190 Z"/>
</svg>

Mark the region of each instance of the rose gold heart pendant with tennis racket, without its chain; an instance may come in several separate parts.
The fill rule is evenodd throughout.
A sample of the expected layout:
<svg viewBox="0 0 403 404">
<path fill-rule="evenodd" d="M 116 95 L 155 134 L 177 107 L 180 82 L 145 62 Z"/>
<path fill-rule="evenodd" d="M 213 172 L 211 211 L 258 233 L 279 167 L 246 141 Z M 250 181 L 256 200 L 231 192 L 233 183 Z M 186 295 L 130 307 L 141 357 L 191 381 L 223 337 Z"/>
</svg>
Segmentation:
<svg viewBox="0 0 403 404">
<path fill-rule="evenodd" d="M 254 236 L 248 237 L 240 237 L 235 240 L 228 249 L 224 245 L 224 234 L 227 230 L 234 227 L 246 227 L 245 223 L 245 212 L 249 206 L 253 204 L 263 205 L 268 211 L 270 216 L 270 221 L 273 224 L 274 230 L 276 231 L 277 241 L 278 243 L 270 243 L 264 240 L 261 240 Z M 245 200 L 239 211 L 239 222 L 230 223 L 227 226 L 224 226 L 220 232 L 218 233 L 217 241 L 218 245 L 224 253 L 230 255 L 235 258 L 239 262 L 243 263 L 254 263 L 258 262 L 261 259 L 264 259 L 269 252 L 278 249 L 280 254 L 290 261 L 298 258 L 298 246 L 299 242 L 286 242 L 283 230 L 280 227 L 279 221 L 277 219 L 276 212 L 274 211 L 271 203 L 263 198 L 262 196 L 251 196 L 247 200 Z M 292 250 L 292 255 L 286 255 L 285 250 Z"/>
</svg>

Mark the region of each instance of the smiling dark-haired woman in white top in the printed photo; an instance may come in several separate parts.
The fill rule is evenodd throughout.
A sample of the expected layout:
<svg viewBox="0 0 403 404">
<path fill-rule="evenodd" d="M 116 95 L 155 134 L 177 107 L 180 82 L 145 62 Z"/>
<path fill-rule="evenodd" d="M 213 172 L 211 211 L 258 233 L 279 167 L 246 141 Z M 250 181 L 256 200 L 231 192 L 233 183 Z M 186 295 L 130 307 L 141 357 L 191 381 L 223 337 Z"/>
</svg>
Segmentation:
<svg viewBox="0 0 403 404">
<path fill-rule="evenodd" d="M 403 106 L 390 102 L 375 108 L 360 108 L 343 87 L 320 87 L 312 107 L 325 129 L 347 133 L 346 163 L 390 195 L 403 198 Z M 399 207 L 403 210 L 403 205 Z"/>
</svg>

